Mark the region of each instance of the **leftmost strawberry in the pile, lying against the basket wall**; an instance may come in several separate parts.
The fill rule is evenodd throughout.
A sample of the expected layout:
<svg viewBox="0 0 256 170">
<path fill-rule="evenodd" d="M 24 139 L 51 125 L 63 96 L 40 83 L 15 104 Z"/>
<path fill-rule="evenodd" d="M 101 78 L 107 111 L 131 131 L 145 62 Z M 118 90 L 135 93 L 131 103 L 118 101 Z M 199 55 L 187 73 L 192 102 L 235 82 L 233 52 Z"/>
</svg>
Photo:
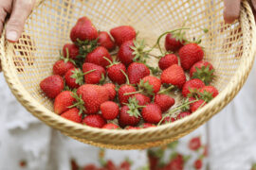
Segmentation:
<svg viewBox="0 0 256 170">
<path fill-rule="evenodd" d="M 64 90 L 64 79 L 59 75 L 48 76 L 41 81 L 40 88 L 47 97 L 55 98 Z"/>
</svg>

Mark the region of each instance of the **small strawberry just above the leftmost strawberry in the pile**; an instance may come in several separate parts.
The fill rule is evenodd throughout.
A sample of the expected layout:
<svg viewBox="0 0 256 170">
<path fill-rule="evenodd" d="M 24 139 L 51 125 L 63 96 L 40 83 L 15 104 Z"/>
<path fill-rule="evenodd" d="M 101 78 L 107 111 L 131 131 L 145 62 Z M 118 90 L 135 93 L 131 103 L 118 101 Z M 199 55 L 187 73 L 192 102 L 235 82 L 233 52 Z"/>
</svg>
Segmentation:
<svg viewBox="0 0 256 170">
<path fill-rule="evenodd" d="M 75 68 L 75 65 L 71 61 L 64 61 L 63 59 L 57 60 L 53 65 L 53 74 L 64 76 L 64 74 L 69 70 Z"/>
</svg>

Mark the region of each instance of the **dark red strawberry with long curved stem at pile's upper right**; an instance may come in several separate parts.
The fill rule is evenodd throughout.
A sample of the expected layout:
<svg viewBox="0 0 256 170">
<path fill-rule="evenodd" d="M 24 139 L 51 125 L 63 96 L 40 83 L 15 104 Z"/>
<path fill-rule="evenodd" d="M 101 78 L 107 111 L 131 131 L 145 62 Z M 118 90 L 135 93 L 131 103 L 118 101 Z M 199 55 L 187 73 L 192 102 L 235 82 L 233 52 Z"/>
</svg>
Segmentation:
<svg viewBox="0 0 256 170">
<path fill-rule="evenodd" d="M 169 33 L 166 35 L 165 38 L 165 49 L 166 51 L 173 51 L 176 52 L 183 46 L 184 42 L 180 42 L 174 38 L 174 36 Z"/>
</svg>

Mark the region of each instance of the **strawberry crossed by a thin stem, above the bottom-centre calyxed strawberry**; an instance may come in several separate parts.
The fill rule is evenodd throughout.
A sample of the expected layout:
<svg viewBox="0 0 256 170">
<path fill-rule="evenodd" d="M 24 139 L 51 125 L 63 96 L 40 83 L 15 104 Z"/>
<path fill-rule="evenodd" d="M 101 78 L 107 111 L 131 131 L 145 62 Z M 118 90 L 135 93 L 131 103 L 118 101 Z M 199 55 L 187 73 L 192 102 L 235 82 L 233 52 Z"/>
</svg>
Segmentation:
<svg viewBox="0 0 256 170">
<path fill-rule="evenodd" d="M 133 94 L 130 95 L 124 95 L 125 93 L 134 93 L 136 92 L 136 88 L 129 84 L 124 84 L 119 88 L 119 103 L 121 106 L 123 106 L 125 103 L 128 103 L 128 99 L 133 96 Z"/>
</svg>

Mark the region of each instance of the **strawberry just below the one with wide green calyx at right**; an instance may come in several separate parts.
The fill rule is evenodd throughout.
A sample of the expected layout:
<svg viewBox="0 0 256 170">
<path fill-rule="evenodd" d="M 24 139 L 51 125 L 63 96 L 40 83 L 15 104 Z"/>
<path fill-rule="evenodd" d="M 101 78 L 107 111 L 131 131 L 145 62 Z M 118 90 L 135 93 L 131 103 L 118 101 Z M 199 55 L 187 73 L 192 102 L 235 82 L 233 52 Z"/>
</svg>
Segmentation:
<svg viewBox="0 0 256 170">
<path fill-rule="evenodd" d="M 200 79 L 191 79 L 187 81 L 182 88 L 182 95 L 184 97 L 193 96 L 198 93 L 201 88 L 205 86 L 205 83 Z"/>
</svg>

